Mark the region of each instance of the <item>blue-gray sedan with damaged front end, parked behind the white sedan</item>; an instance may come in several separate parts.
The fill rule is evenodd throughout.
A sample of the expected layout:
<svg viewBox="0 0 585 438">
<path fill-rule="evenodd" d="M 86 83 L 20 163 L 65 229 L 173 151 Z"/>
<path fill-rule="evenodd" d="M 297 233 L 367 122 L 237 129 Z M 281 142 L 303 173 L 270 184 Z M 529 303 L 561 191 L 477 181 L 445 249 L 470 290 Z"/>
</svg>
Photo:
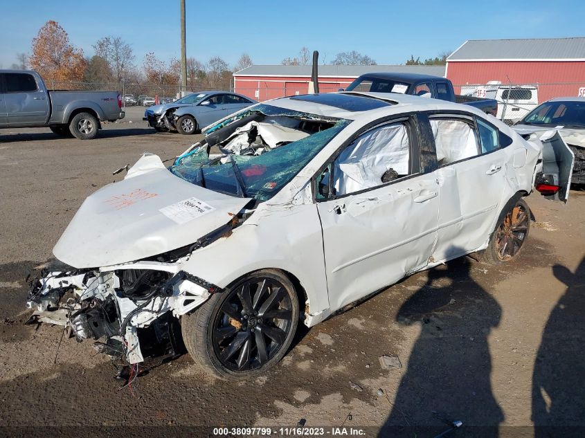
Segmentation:
<svg viewBox="0 0 585 438">
<path fill-rule="evenodd" d="M 156 131 L 172 131 L 179 134 L 195 134 L 217 120 L 256 102 L 237 93 L 226 91 L 200 91 L 191 93 L 175 102 L 150 107 L 143 120 Z"/>
</svg>

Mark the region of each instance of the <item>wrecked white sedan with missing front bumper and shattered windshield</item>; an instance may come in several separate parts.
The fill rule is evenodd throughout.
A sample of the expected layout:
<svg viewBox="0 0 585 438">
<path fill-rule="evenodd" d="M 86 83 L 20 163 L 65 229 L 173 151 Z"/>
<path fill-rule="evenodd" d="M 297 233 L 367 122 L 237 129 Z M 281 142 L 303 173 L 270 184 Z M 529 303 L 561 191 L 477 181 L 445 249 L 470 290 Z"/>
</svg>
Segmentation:
<svg viewBox="0 0 585 438">
<path fill-rule="evenodd" d="M 572 165 L 554 132 L 528 142 L 472 107 L 391 93 L 281 98 L 204 134 L 169 168 L 145 154 L 84 201 L 53 250 L 62 265 L 31 284 L 33 320 L 130 364 L 180 322 L 195 361 L 253 376 L 299 320 L 467 253 L 512 259 L 523 197 L 536 181 L 566 201 Z"/>
</svg>

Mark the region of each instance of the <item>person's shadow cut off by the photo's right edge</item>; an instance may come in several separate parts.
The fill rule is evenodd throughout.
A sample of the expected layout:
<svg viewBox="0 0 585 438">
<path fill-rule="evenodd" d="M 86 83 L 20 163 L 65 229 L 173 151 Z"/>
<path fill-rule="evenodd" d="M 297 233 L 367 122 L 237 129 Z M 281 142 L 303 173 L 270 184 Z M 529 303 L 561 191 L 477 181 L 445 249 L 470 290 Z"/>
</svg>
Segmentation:
<svg viewBox="0 0 585 438">
<path fill-rule="evenodd" d="M 532 374 L 534 437 L 585 436 L 585 257 L 571 272 L 552 273 L 567 286 L 550 312 Z"/>
</svg>

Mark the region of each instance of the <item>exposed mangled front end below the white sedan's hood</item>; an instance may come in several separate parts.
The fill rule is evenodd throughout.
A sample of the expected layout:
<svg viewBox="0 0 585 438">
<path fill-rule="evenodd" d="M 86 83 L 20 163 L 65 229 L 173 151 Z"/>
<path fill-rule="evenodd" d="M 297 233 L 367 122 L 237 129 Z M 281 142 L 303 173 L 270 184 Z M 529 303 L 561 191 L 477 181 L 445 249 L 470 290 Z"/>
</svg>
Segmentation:
<svg viewBox="0 0 585 438">
<path fill-rule="evenodd" d="M 30 283 L 28 323 L 66 327 L 79 341 L 126 363 L 174 349 L 177 318 L 220 289 L 176 264 L 136 262 L 99 269 L 44 268 Z"/>
</svg>

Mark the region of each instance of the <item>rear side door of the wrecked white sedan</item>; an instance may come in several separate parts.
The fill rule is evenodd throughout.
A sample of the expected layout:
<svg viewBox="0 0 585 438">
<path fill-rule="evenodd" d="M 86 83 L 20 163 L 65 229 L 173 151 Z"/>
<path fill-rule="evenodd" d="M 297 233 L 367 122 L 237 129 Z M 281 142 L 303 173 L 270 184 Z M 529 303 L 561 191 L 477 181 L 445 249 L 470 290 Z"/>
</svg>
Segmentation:
<svg viewBox="0 0 585 438">
<path fill-rule="evenodd" d="M 513 193 L 505 181 L 506 155 L 498 129 L 467 113 L 438 113 L 429 121 L 440 192 L 431 262 L 441 262 L 482 246 Z"/>
</svg>

